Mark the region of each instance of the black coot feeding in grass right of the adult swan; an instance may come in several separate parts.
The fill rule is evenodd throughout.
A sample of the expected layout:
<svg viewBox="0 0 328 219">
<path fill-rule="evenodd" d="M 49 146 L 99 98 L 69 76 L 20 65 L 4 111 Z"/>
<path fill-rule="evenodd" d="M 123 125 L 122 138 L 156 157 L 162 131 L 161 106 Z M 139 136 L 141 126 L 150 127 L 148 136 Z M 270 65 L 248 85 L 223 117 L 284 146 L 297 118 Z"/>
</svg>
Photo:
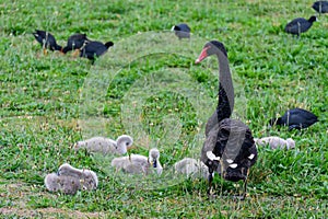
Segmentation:
<svg viewBox="0 0 328 219">
<path fill-rule="evenodd" d="M 270 125 L 282 125 L 289 126 L 289 130 L 292 129 L 303 129 L 312 126 L 318 122 L 318 117 L 313 113 L 305 111 L 303 108 L 292 108 L 284 113 L 283 116 L 279 118 L 272 118 L 269 123 Z"/>
</svg>

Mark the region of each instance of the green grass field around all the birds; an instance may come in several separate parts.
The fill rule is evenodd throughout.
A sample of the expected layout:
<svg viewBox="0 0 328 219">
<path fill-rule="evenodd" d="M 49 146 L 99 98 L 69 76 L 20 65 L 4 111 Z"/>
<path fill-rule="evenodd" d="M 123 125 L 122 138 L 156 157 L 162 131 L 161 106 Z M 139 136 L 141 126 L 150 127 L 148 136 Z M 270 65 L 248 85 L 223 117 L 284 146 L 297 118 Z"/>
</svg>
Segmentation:
<svg viewBox="0 0 328 219">
<path fill-rule="evenodd" d="M 326 218 L 328 194 L 328 16 L 297 39 L 283 32 L 292 19 L 315 14 L 311 1 L 9 1 L 0 3 L 1 218 Z M 190 25 L 190 41 L 169 30 Z M 49 51 L 35 28 L 65 45 L 73 33 L 115 46 L 94 65 Z M 294 150 L 259 148 L 248 197 L 215 176 L 177 177 L 173 164 L 198 158 L 204 124 L 216 106 L 218 64 L 195 65 L 210 39 L 225 44 L 235 115 L 255 137 L 296 141 Z M 288 108 L 303 107 L 319 123 L 302 131 L 268 128 Z M 157 147 L 164 164 L 155 180 L 116 175 L 110 160 L 74 151 L 94 135 L 134 138 L 133 153 Z M 92 169 L 99 186 L 74 196 L 47 192 L 44 177 L 69 162 Z"/>
</svg>

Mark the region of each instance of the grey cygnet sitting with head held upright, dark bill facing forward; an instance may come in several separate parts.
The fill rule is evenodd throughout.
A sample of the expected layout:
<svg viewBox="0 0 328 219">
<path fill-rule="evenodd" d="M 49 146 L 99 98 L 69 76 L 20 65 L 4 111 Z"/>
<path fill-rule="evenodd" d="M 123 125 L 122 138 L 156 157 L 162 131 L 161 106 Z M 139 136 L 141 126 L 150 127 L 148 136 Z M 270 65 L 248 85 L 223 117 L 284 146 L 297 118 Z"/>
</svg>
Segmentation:
<svg viewBox="0 0 328 219">
<path fill-rule="evenodd" d="M 130 157 L 115 158 L 112 166 L 117 171 L 122 170 L 130 174 L 149 174 L 153 169 L 159 175 L 162 174 L 163 168 L 160 163 L 160 151 L 155 148 L 149 151 L 149 158 L 140 154 L 131 154 Z"/>
</svg>

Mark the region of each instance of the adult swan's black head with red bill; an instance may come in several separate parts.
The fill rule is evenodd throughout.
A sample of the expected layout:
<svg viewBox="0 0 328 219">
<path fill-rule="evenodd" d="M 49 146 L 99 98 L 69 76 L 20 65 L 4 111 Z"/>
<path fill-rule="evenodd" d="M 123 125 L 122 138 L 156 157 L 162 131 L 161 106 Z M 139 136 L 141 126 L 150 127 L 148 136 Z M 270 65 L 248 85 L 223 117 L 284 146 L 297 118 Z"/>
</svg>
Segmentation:
<svg viewBox="0 0 328 219">
<path fill-rule="evenodd" d="M 211 42 L 207 43 L 203 46 L 198 59 L 196 59 L 195 62 L 199 64 L 203 59 L 206 59 L 207 57 L 212 56 L 214 54 L 216 54 L 216 55 L 223 54 L 225 57 L 227 57 L 226 49 L 225 49 L 224 45 L 221 42 L 211 41 Z"/>
</svg>

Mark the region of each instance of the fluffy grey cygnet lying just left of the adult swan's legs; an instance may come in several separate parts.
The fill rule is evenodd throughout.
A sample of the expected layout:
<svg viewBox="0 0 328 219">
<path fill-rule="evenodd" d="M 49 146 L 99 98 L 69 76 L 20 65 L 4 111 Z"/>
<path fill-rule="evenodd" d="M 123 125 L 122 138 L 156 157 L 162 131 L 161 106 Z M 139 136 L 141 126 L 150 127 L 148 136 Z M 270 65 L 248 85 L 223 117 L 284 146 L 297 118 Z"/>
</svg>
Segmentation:
<svg viewBox="0 0 328 219">
<path fill-rule="evenodd" d="M 186 174 L 188 177 L 208 178 L 208 166 L 200 160 L 184 158 L 174 164 L 176 173 Z"/>
</svg>

